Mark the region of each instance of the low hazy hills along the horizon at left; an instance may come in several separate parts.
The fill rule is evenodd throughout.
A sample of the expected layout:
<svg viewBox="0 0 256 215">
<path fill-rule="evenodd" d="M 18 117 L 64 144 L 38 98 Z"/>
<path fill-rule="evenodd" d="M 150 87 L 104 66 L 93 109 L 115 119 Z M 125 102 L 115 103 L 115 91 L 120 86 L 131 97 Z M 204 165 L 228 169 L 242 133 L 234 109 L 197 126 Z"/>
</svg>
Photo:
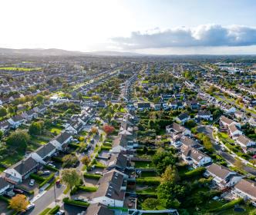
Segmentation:
<svg viewBox="0 0 256 215">
<path fill-rule="evenodd" d="M 1 55 L 31 55 L 31 56 L 82 56 L 82 55 L 94 55 L 94 56 L 139 56 L 140 54 L 131 52 L 119 52 L 119 51 L 67 51 L 57 48 L 0 48 Z"/>
</svg>

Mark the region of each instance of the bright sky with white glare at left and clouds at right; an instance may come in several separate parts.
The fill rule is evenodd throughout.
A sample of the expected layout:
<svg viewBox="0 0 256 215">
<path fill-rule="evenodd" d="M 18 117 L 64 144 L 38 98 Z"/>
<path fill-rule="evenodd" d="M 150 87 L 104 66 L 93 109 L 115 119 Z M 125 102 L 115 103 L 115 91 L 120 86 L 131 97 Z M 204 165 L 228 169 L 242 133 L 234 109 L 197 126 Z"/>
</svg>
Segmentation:
<svg viewBox="0 0 256 215">
<path fill-rule="evenodd" d="M 2 0 L 1 48 L 256 55 L 254 0 Z"/>
</svg>

